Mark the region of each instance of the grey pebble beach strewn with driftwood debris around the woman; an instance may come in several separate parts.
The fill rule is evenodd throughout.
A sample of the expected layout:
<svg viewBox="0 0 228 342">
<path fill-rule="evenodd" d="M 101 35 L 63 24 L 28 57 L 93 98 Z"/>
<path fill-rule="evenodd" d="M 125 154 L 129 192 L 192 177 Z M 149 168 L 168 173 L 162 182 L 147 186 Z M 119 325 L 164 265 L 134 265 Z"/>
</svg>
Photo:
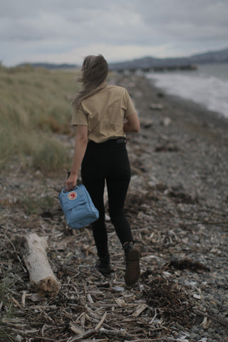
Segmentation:
<svg viewBox="0 0 228 342">
<path fill-rule="evenodd" d="M 90 227 L 66 226 L 58 202 L 66 171 L 51 178 L 12 161 L 10 177 L 1 175 L 0 253 L 16 314 L 0 327 L 15 338 L 2 341 L 227 342 L 228 120 L 167 95 L 144 76 L 113 75 L 109 83 L 128 89 L 141 124 L 140 133 L 128 135 L 132 177 L 125 205 L 141 277 L 125 286 L 108 204 L 115 271 L 104 277 L 93 268 Z M 73 153 L 75 138 L 58 138 Z M 24 192 L 31 200 L 49 195 L 55 205 L 28 214 L 19 205 Z M 54 298 L 36 294 L 22 262 L 19 236 L 30 232 L 48 241 L 61 284 Z M 7 305 L 1 304 L 3 316 Z"/>
</svg>

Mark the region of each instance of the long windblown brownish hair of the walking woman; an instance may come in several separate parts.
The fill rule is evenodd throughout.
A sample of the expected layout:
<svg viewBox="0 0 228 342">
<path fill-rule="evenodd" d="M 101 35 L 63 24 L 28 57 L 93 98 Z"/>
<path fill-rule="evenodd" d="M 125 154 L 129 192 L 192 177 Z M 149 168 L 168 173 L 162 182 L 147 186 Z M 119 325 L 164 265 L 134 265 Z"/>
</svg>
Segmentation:
<svg viewBox="0 0 228 342">
<path fill-rule="evenodd" d="M 103 89 L 107 77 L 108 63 L 105 58 L 102 55 L 87 56 L 83 61 L 81 75 L 77 80 L 82 82 L 83 86 L 73 100 L 73 107 L 77 109 L 83 100 Z"/>
</svg>

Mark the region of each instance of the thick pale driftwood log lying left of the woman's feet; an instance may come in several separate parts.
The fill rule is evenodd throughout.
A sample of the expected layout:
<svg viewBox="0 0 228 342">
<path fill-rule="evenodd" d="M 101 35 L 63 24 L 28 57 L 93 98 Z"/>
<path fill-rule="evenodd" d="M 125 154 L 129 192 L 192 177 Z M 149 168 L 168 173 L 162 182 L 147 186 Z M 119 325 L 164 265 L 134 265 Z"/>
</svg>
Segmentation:
<svg viewBox="0 0 228 342">
<path fill-rule="evenodd" d="M 31 233 L 23 238 L 22 254 L 31 284 L 41 296 L 56 296 L 59 282 L 53 274 L 46 249 L 48 243 L 44 237 Z"/>
</svg>

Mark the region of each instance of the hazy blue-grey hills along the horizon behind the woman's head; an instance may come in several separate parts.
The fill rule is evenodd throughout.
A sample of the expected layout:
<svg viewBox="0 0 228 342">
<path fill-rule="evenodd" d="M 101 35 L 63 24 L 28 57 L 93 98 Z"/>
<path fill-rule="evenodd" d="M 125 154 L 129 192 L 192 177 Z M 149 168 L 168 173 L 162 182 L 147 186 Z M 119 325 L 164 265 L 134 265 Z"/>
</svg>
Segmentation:
<svg viewBox="0 0 228 342">
<path fill-rule="evenodd" d="M 166 68 L 172 66 L 190 66 L 202 63 L 225 63 L 228 62 L 228 48 L 219 51 L 209 51 L 199 53 L 190 57 L 178 58 L 154 58 L 143 57 L 118 63 L 109 63 L 110 70 L 129 69 L 129 68 Z M 54 63 L 29 63 L 33 68 L 47 69 L 76 69 L 75 64 L 54 64 Z M 24 64 L 23 64 L 24 65 Z"/>
</svg>

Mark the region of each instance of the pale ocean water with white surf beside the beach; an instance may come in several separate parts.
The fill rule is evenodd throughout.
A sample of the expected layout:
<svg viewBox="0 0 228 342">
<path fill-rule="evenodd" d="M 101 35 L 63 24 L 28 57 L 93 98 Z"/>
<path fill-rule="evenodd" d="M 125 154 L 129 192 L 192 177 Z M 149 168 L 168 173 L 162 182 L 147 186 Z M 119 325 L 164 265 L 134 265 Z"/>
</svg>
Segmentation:
<svg viewBox="0 0 228 342">
<path fill-rule="evenodd" d="M 228 63 L 202 64 L 195 71 L 148 73 L 166 93 L 193 100 L 228 118 Z"/>
</svg>

